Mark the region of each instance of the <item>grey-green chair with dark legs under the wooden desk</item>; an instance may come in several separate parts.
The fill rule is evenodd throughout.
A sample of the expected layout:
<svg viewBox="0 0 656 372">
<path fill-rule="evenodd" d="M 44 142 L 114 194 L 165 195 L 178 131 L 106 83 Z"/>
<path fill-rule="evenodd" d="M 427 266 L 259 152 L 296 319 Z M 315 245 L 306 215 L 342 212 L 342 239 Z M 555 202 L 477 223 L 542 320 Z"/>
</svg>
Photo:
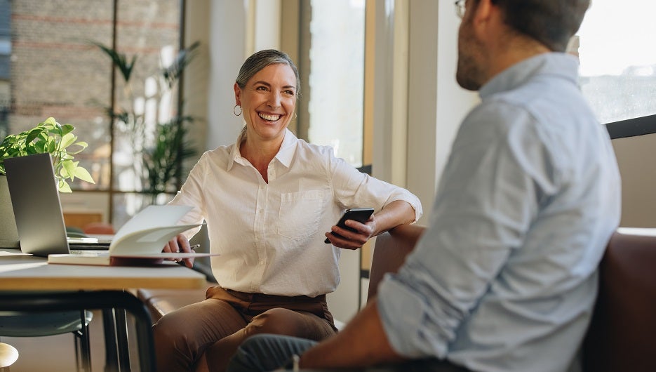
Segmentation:
<svg viewBox="0 0 656 372">
<path fill-rule="evenodd" d="M 86 310 L 0 311 L 0 337 L 41 337 L 73 333 L 77 370 L 80 371 L 81 366 L 83 371 L 91 371 L 91 344 L 88 336 L 88 324 L 91 319 L 93 313 Z M 18 353 L 15 357 L 18 359 Z"/>
</svg>

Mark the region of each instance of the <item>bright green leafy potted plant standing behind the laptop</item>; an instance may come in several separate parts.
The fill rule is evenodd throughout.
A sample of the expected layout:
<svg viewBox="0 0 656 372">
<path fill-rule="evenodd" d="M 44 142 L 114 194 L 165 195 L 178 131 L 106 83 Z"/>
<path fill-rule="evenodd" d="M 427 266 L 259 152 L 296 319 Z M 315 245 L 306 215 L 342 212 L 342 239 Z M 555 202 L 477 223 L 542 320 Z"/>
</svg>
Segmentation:
<svg viewBox="0 0 656 372">
<path fill-rule="evenodd" d="M 71 124 L 61 125 L 49 117 L 28 131 L 7 135 L 0 142 L 0 246 L 14 248 L 18 246 L 18 231 L 9 198 L 9 188 L 4 168 L 4 159 L 22 157 L 31 154 L 50 153 L 53 157 L 53 168 L 60 192 L 71 192 L 68 181 L 79 178 L 95 183 L 91 174 L 74 161 L 74 155 L 79 154 L 88 146 L 86 142 L 78 141 L 72 132 Z"/>
</svg>

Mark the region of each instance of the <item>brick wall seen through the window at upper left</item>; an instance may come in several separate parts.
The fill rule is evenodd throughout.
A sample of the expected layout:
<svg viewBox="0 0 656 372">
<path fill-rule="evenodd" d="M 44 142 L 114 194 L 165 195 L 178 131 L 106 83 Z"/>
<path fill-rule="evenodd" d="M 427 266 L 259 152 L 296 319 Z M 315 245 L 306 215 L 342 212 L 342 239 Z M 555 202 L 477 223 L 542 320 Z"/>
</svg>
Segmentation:
<svg viewBox="0 0 656 372">
<path fill-rule="evenodd" d="M 6 0 L 0 0 L 6 1 Z M 79 155 L 87 169 L 109 165 L 109 119 L 105 107 L 111 97 L 109 58 L 90 41 L 112 44 L 112 0 L 12 0 L 11 112 L 9 131 L 16 133 L 46 117 L 76 126 L 89 143 Z M 117 49 L 138 55 L 133 81 L 142 82 L 160 67 L 162 48 L 178 50 L 178 0 L 119 1 Z M 128 105 L 116 76 L 118 105 Z M 134 84 L 136 96 L 144 84 Z M 98 188 L 109 180 L 100 171 Z M 98 181 L 98 179 L 97 179 Z"/>
</svg>

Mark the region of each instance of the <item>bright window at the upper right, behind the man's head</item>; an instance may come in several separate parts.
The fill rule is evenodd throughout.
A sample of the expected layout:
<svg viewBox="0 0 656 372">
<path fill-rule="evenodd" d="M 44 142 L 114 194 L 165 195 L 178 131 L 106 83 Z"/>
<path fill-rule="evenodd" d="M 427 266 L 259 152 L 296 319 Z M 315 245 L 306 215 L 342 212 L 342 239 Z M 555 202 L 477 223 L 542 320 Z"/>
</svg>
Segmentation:
<svg viewBox="0 0 656 372">
<path fill-rule="evenodd" d="M 656 114 L 656 3 L 593 0 L 578 35 L 581 88 L 610 123 Z"/>
</svg>

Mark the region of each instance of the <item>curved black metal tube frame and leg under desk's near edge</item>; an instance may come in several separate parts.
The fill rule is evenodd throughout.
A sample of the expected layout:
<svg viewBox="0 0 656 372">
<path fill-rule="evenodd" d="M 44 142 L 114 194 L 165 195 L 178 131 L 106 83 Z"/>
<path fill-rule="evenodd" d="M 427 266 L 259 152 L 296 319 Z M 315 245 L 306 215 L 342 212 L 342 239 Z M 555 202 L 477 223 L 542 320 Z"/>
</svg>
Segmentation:
<svg viewBox="0 0 656 372">
<path fill-rule="evenodd" d="M 135 317 L 140 371 L 156 371 L 152 319 L 138 298 L 124 291 L 81 291 L 60 293 L 0 294 L 0 310 L 58 311 L 58 310 L 123 309 Z"/>
</svg>

